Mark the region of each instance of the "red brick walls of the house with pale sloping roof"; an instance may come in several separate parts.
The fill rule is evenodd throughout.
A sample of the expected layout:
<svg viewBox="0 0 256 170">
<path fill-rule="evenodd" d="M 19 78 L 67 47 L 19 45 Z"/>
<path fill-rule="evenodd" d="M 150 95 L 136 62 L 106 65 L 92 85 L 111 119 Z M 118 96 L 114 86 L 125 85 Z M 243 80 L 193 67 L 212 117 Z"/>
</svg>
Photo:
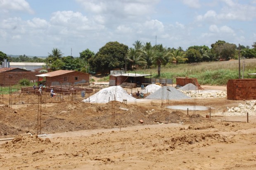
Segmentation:
<svg viewBox="0 0 256 170">
<path fill-rule="evenodd" d="M 59 82 L 59 85 L 73 85 L 75 82 L 80 82 L 81 80 L 86 80 L 86 83 L 89 82 L 89 75 L 88 73 L 82 73 L 82 72 L 71 72 L 62 74 L 60 76 L 54 76 L 54 77 L 46 77 L 46 86 L 51 86 L 52 82 Z M 66 81 L 64 81 L 64 77 L 66 77 Z M 75 77 L 78 79 L 75 80 Z"/>
</svg>

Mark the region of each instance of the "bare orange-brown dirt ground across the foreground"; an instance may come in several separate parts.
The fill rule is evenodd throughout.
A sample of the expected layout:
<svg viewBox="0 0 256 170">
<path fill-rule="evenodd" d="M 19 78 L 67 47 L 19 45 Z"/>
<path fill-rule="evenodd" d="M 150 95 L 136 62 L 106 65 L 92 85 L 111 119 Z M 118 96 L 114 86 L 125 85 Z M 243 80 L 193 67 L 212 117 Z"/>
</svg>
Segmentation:
<svg viewBox="0 0 256 170">
<path fill-rule="evenodd" d="M 19 99 L 28 96 L 38 100 L 34 94 Z M 245 102 L 211 98 L 168 105 L 196 103 L 214 113 Z M 35 102 L 12 108 L 5 103 L 0 106 L 0 169 L 256 169 L 256 116 L 249 123 L 245 116 L 206 118 L 209 110 L 187 114 L 166 105 L 146 99 L 128 104 Z"/>
</svg>

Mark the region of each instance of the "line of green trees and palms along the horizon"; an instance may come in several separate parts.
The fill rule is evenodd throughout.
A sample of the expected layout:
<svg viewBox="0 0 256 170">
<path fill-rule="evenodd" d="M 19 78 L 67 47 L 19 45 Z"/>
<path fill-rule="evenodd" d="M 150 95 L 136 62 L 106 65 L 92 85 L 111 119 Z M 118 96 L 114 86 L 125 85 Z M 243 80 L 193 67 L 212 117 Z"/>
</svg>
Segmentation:
<svg viewBox="0 0 256 170">
<path fill-rule="evenodd" d="M 38 57 L 27 57 L 25 54 L 19 57 L 7 57 L 0 52 L 0 61 L 8 59 L 10 62 L 45 62 L 52 70 L 77 70 L 82 72 L 109 73 L 114 69 L 125 69 L 126 71 L 137 68 L 156 67 L 160 76 L 161 66 L 166 64 L 199 63 L 209 61 L 228 61 L 244 57 L 247 59 L 256 57 L 256 42 L 249 46 L 227 43 L 218 40 L 211 44 L 191 46 L 186 50 L 182 47 L 170 48 L 162 44 L 152 45 L 150 42 L 142 43 L 137 40 L 133 47 L 119 42 L 109 42 L 99 49 L 95 54 L 89 49 L 80 52 L 80 57 L 64 57 L 61 50 L 53 48 L 46 59 Z"/>
</svg>

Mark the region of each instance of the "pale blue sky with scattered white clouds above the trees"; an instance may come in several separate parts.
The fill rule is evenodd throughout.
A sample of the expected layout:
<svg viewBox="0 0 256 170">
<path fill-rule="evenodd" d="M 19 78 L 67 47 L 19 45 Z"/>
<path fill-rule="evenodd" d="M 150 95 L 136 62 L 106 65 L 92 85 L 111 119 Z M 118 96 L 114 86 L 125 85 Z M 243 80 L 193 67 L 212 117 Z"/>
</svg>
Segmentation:
<svg viewBox="0 0 256 170">
<path fill-rule="evenodd" d="M 0 51 L 7 55 L 95 53 L 135 41 L 186 50 L 218 40 L 256 42 L 256 0 L 0 0 Z"/>
</svg>

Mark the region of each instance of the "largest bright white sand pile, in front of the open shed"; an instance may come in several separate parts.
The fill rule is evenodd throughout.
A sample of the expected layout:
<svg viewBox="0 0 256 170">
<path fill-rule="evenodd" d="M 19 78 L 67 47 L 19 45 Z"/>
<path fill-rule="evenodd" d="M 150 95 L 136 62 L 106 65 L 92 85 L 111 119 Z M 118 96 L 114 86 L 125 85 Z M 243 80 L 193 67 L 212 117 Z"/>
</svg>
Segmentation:
<svg viewBox="0 0 256 170">
<path fill-rule="evenodd" d="M 135 98 L 130 96 L 125 90 L 120 86 L 111 86 L 100 90 L 99 92 L 93 94 L 90 97 L 90 103 L 108 103 L 110 101 L 123 102 L 126 99 L 127 102 L 135 102 Z M 83 102 L 89 102 L 89 98 L 83 99 Z"/>
</svg>

